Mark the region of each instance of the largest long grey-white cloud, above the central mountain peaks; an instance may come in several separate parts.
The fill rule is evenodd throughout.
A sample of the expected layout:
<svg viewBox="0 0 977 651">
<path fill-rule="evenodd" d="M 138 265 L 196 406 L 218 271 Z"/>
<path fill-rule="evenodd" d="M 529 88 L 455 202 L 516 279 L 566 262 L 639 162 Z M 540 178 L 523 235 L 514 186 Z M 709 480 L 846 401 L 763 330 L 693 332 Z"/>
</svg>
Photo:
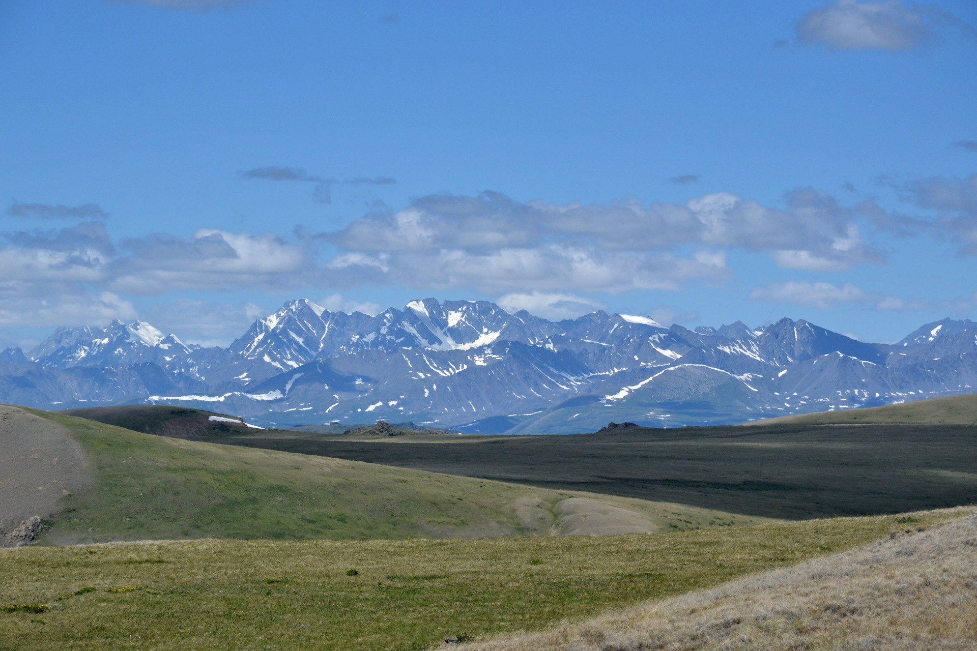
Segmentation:
<svg viewBox="0 0 977 651">
<path fill-rule="evenodd" d="M 319 237 L 339 248 L 335 282 L 389 283 L 484 293 L 679 289 L 727 274 L 727 248 L 766 251 L 790 268 L 880 263 L 858 217 L 813 188 L 787 193 L 787 210 L 720 192 L 685 205 L 520 203 L 498 193 L 428 196 L 371 213 Z M 680 247 L 697 253 L 679 255 Z"/>
</svg>

